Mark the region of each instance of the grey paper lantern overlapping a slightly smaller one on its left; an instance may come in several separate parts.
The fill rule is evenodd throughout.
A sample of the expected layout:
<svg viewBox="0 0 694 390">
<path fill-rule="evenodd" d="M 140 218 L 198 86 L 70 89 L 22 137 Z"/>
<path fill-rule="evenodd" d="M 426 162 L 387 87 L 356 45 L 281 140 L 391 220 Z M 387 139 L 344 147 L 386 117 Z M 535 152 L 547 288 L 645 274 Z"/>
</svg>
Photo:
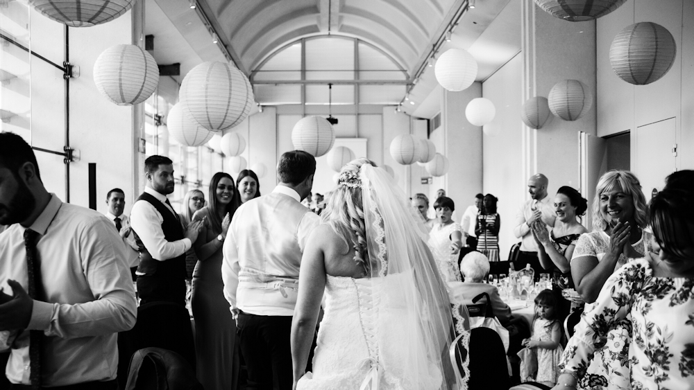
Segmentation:
<svg viewBox="0 0 694 390">
<path fill-rule="evenodd" d="M 550 90 L 548 104 L 555 116 L 564 121 L 575 121 L 591 109 L 593 94 L 578 80 L 563 80 Z"/>
</svg>

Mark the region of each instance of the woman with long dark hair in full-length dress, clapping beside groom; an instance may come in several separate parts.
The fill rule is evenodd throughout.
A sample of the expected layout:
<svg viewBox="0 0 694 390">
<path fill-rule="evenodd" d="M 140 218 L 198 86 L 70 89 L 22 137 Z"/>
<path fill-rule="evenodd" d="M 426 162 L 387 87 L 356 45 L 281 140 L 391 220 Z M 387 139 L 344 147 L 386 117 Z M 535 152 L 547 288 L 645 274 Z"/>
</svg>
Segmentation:
<svg viewBox="0 0 694 390">
<path fill-rule="evenodd" d="M 194 249 L 198 263 L 193 272 L 192 308 L 195 317 L 195 351 L 198 380 L 205 389 L 236 389 L 239 346 L 236 323 L 224 298 L 221 279 L 222 245 L 239 207 L 234 179 L 217 172 L 210 181 L 208 206 L 193 220 L 204 221 Z"/>
</svg>

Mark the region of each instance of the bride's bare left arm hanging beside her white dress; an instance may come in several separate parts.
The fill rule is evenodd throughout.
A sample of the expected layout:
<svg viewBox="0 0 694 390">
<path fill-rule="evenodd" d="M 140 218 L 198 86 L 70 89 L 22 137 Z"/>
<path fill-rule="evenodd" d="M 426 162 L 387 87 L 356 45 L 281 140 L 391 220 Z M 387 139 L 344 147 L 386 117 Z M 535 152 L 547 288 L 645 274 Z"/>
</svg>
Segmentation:
<svg viewBox="0 0 694 390">
<path fill-rule="evenodd" d="M 311 233 L 301 258 L 299 292 L 291 320 L 291 362 L 294 386 L 306 371 L 308 355 L 316 332 L 316 321 L 325 291 L 325 234 L 321 226 Z"/>
</svg>

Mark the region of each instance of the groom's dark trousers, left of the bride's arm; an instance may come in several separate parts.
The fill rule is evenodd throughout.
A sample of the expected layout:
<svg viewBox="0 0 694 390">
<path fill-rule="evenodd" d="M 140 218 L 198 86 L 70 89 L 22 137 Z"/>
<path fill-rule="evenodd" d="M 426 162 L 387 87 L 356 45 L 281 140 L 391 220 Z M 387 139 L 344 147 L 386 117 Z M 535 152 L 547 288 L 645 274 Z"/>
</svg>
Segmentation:
<svg viewBox="0 0 694 390">
<path fill-rule="evenodd" d="M 291 390 L 291 316 L 239 313 L 236 331 L 248 370 L 247 390 Z"/>
</svg>

